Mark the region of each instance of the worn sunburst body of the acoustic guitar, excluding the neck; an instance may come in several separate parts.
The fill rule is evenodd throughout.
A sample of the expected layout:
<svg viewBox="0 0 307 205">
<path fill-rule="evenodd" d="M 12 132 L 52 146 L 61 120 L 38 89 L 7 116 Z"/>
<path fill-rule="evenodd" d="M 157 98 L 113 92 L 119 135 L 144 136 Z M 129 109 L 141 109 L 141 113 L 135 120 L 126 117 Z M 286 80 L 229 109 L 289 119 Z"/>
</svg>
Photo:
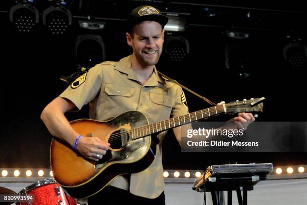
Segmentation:
<svg viewBox="0 0 307 205">
<path fill-rule="evenodd" d="M 156 144 L 150 135 L 131 140 L 128 132 L 144 125 L 148 125 L 148 120 L 137 111 L 104 122 L 72 121 L 71 126 L 76 132 L 110 143 L 110 150 L 98 162 L 88 161 L 69 145 L 54 138 L 50 150 L 54 178 L 71 196 L 84 198 L 102 190 L 118 175 L 144 170 L 155 159 Z"/>
</svg>

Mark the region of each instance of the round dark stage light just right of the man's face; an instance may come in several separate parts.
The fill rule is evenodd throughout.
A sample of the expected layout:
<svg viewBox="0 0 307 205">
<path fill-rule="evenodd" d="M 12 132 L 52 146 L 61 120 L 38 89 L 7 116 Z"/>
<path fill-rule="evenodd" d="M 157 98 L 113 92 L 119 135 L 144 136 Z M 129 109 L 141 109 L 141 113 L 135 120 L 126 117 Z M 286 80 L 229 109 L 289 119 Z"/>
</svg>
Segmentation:
<svg viewBox="0 0 307 205">
<path fill-rule="evenodd" d="M 182 36 L 170 36 L 165 40 L 165 53 L 172 61 L 181 62 L 189 53 L 189 41 Z"/>
</svg>

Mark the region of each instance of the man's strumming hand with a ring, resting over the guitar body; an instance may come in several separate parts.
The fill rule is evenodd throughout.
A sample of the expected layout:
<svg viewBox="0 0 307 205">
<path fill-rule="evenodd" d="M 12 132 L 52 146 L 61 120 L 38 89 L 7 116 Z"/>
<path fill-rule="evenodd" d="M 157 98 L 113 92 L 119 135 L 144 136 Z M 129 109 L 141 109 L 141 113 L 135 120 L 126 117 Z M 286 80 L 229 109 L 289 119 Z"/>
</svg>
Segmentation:
<svg viewBox="0 0 307 205">
<path fill-rule="evenodd" d="M 101 141 L 98 137 L 83 137 L 79 140 L 77 151 L 85 158 L 98 161 L 110 148 L 110 144 Z"/>
</svg>

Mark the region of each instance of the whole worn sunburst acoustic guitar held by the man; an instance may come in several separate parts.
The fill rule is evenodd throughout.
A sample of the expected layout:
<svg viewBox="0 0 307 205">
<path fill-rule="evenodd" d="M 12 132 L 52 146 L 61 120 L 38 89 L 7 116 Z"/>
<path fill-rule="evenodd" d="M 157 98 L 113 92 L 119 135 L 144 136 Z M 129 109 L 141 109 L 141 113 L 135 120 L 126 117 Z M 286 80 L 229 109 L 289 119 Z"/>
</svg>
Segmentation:
<svg viewBox="0 0 307 205">
<path fill-rule="evenodd" d="M 237 100 L 153 124 L 138 111 L 128 111 L 104 122 L 72 121 L 77 133 L 98 137 L 110 143 L 110 149 L 101 160 L 88 161 L 70 145 L 53 138 L 50 160 L 54 178 L 72 197 L 94 195 L 116 176 L 146 169 L 155 159 L 158 133 L 223 113 L 262 112 L 263 99 Z"/>
</svg>

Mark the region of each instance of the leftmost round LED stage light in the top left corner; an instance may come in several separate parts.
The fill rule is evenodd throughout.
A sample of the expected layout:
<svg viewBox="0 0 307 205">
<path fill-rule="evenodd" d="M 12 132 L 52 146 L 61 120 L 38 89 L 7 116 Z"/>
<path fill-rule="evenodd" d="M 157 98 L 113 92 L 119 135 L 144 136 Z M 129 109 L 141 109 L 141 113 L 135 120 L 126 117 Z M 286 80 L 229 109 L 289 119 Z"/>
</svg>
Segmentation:
<svg viewBox="0 0 307 205">
<path fill-rule="evenodd" d="M 22 0 L 10 9 L 10 21 L 20 34 L 29 34 L 39 23 L 39 11 L 34 0 Z"/>
</svg>

